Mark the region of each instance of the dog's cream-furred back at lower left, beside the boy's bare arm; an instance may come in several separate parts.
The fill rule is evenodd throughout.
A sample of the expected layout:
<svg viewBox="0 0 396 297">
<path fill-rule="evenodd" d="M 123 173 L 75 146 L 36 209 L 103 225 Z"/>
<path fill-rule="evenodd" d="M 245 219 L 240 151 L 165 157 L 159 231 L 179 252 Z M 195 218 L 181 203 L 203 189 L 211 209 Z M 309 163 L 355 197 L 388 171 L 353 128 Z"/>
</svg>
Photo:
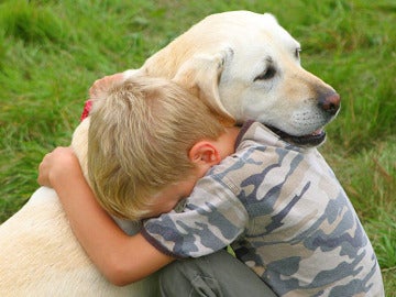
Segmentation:
<svg viewBox="0 0 396 297">
<path fill-rule="evenodd" d="M 74 237 L 53 189 L 41 187 L 0 227 L 0 296 L 157 296 L 153 275 L 110 284 Z M 151 283 L 152 284 L 152 283 Z"/>
</svg>

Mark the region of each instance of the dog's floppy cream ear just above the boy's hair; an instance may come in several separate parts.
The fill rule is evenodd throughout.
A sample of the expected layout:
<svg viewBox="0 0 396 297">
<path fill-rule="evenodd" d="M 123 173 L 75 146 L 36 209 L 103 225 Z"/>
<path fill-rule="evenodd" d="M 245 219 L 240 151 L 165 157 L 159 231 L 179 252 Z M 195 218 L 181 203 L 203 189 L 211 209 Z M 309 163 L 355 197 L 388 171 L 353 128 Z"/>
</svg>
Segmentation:
<svg viewBox="0 0 396 297">
<path fill-rule="evenodd" d="M 219 95 L 220 76 L 231 50 L 210 55 L 196 55 L 185 62 L 172 79 L 201 99 L 222 124 L 235 124 L 233 117 L 223 107 Z"/>
</svg>

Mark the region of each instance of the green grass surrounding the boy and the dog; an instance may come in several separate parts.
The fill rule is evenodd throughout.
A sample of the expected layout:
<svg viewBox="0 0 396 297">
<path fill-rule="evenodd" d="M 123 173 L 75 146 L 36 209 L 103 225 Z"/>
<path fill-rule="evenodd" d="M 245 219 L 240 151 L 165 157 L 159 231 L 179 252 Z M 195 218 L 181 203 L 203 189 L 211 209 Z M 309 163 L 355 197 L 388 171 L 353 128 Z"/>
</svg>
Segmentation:
<svg viewBox="0 0 396 297">
<path fill-rule="evenodd" d="M 273 12 L 302 44 L 305 68 L 341 94 L 321 151 L 396 296 L 393 0 L 0 0 L 0 222 L 37 188 L 44 154 L 69 144 L 95 79 L 140 67 L 207 14 L 239 9 Z"/>
</svg>

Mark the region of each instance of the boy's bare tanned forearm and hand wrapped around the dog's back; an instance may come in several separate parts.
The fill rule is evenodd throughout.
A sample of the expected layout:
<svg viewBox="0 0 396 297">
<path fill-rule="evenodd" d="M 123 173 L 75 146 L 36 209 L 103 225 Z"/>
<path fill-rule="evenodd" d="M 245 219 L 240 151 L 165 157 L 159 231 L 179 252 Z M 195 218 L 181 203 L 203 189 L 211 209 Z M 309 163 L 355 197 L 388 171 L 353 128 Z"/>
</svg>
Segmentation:
<svg viewBox="0 0 396 297">
<path fill-rule="evenodd" d="M 113 284 L 136 282 L 174 258 L 161 253 L 141 234 L 127 235 L 98 205 L 69 147 L 58 147 L 40 165 L 38 183 L 52 186 L 78 241 Z"/>
</svg>

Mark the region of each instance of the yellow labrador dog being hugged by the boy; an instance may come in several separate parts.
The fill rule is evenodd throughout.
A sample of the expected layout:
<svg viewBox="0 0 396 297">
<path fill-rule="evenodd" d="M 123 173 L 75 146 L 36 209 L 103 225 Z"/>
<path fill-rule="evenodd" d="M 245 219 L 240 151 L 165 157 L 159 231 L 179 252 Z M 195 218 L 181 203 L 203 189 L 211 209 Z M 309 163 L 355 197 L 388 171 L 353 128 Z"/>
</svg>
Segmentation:
<svg viewBox="0 0 396 297">
<path fill-rule="evenodd" d="M 271 14 L 213 14 L 150 57 L 135 74 L 166 77 L 199 96 L 224 124 L 258 120 L 300 145 L 324 141 L 340 97 L 300 66 L 300 45 Z M 72 145 L 87 174 L 89 117 Z M 118 221 L 128 233 L 139 224 Z M 95 228 L 95 227 L 92 227 Z M 56 194 L 42 187 L 0 227 L 0 296 L 157 296 L 157 276 L 108 283 L 73 235 Z"/>
</svg>

